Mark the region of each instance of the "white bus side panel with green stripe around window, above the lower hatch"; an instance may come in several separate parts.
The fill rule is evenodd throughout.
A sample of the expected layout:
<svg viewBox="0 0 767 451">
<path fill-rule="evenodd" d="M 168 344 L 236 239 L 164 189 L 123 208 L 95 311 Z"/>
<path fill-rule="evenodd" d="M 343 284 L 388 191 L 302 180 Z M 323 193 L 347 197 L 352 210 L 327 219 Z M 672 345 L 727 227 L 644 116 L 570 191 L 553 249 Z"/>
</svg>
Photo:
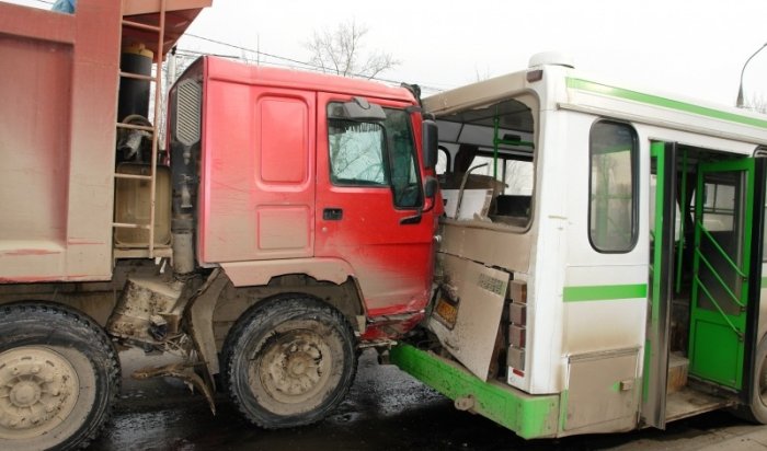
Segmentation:
<svg viewBox="0 0 767 451">
<path fill-rule="evenodd" d="M 589 233 L 589 134 L 602 118 L 569 113 L 568 255 L 562 300 L 565 355 L 642 347 L 649 270 L 649 140 L 638 130 L 633 201 L 636 243 L 626 252 L 600 252 Z M 630 125 L 629 125 L 630 126 Z"/>
</svg>

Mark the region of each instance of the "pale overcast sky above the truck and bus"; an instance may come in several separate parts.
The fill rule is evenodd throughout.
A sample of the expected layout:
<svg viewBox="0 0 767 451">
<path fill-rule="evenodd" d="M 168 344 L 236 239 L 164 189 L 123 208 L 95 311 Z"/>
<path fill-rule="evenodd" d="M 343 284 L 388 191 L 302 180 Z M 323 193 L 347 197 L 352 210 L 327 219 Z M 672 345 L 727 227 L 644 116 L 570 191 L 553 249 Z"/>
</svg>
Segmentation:
<svg viewBox="0 0 767 451">
<path fill-rule="evenodd" d="M 559 50 L 609 80 L 733 104 L 743 63 L 767 43 L 766 0 L 214 0 L 188 33 L 306 61 L 314 30 L 351 20 L 369 28 L 368 49 L 401 61 L 381 78 L 437 89 Z M 243 54 L 193 37 L 180 48 Z M 746 68 L 744 86 L 746 97 L 767 103 L 767 48 Z"/>
</svg>

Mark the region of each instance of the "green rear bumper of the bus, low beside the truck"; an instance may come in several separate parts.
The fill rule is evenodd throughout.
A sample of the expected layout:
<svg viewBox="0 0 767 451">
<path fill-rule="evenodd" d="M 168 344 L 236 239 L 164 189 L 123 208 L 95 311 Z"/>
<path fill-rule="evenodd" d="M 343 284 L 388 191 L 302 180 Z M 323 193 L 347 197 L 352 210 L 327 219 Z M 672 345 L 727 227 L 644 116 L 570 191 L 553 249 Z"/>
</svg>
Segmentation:
<svg viewBox="0 0 767 451">
<path fill-rule="evenodd" d="M 483 382 L 465 368 L 409 345 L 391 349 L 391 362 L 451 400 L 473 401 L 471 412 L 525 439 L 554 437 L 559 396 L 529 395 L 501 382 Z"/>
</svg>

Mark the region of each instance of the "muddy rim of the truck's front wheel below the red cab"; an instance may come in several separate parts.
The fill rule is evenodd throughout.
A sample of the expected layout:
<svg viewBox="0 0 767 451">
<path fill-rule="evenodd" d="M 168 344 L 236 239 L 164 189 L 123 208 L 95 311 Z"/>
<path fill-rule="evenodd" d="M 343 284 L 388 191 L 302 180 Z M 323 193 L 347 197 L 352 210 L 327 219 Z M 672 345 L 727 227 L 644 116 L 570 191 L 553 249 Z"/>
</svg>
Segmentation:
<svg viewBox="0 0 767 451">
<path fill-rule="evenodd" d="M 265 344 L 262 357 L 250 366 L 256 397 L 275 413 L 290 415 L 313 408 L 334 388 L 333 349 L 313 331 L 290 331 Z M 257 383 L 252 383 L 257 382 Z"/>
</svg>

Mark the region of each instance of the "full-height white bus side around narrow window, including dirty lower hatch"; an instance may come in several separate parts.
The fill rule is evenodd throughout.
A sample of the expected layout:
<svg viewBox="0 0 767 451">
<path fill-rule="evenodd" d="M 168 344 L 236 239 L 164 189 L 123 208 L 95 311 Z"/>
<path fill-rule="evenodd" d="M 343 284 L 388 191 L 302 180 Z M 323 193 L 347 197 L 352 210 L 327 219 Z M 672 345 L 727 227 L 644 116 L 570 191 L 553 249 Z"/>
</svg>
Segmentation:
<svg viewBox="0 0 767 451">
<path fill-rule="evenodd" d="M 633 209 L 636 241 L 625 251 L 599 251 L 592 236 L 596 226 L 589 223 L 597 220 L 589 218 L 591 208 L 597 208 L 592 205 L 591 183 L 597 182 L 591 181 L 595 176 L 591 142 L 595 124 L 606 119 L 580 113 L 566 116 L 571 146 L 562 356 L 568 359 L 568 395 L 562 432 L 629 430 L 637 426 L 645 335 L 649 203 L 648 189 L 642 187 L 649 182 L 649 141 L 632 125 L 618 123 L 636 134 L 634 183 L 628 186 L 633 205 L 626 208 L 627 212 Z"/>
</svg>

